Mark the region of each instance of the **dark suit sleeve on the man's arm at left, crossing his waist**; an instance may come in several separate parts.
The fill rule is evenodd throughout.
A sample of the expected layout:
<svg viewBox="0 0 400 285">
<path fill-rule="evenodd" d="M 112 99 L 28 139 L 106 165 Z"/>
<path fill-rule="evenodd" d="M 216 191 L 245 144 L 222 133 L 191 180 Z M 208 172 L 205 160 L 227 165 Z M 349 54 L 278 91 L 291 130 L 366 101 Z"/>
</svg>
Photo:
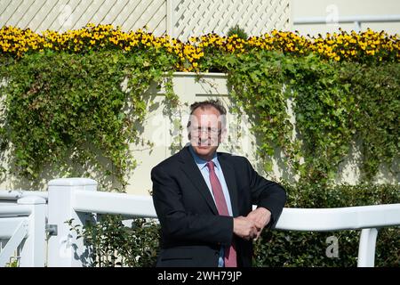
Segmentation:
<svg viewBox="0 0 400 285">
<path fill-rule="evenodd" d="M 183 205 L 179 183 L 163 167 L 152 169 L 151 180 L 156 214 L 163 234 L 169 240 L 230 245 L 233 237 L 231 216 L 189 213 Z"/>
</svg>

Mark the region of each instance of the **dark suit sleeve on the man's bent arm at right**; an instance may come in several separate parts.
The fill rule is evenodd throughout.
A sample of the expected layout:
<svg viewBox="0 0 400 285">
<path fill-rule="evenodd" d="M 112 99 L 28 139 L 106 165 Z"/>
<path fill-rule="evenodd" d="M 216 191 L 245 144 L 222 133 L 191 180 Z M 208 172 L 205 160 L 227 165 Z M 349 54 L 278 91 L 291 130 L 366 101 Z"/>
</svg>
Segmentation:
<svg viewBox="0 0 400 285">
<path fill-rule="evenodd" d="M 286 191 L 279 183 L 269 181 L 260 176 L 246 160 L 247 169 L 250 176 L 250 189 L 252 190 L 252 204 L 258 208 L 267 208 L 271 212 L 271 220 L 268 228 L 274 228 L 281 216 L 286 203 Z"/>
</svg>

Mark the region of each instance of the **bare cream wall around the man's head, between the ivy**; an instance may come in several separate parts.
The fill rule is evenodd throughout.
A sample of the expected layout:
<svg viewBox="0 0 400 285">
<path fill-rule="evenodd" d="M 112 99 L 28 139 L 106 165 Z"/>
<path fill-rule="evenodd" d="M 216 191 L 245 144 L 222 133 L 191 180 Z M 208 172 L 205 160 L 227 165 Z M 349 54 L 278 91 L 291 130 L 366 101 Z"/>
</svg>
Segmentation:
<svg viewBox="0 0 400 285">
<path fill-rule="evenodd" d="M 140 150 L 138 146 L 132 146 L 134 157 L 138 161 L 138 167 L 129 177 L 128 191 L 133 193 L 148 193 L 151 190 L 150 171 L 152 167 L 162 160 L 170 157 L 188 143 L 186 129 L 189 117 L 189 105 L 196 101 L 219 98 L 224 105 L 231 106 L 228 97 L 228 86 L 224 74 L 208 74 L 198 82 L 193 73 L 176 73 L 173 78 L 175 93 L 180 97 L 180 107 L 169 113 L 163 103 L 164 90 L 150 89 L 149 94 L 154 96 L 158 103 L 156 110 L 150 110 L 144 123 L 142 139 L 149 140 L 154 147 L 149 150 L 146 147 Z M 221 143 L 219 151 L 227 151 L 244 155 L 252 160 L 255 167 L 260 162 L 255 154 L 256 140 L 250 132 L 250 124 L 247 117 L 236 117 L 228 113 L 228 136 Z M 262 170 L 262 169 L 260 169 Z M 278 168 L 274 168 L 274 177 L 279 177 Z"/>
</svg>

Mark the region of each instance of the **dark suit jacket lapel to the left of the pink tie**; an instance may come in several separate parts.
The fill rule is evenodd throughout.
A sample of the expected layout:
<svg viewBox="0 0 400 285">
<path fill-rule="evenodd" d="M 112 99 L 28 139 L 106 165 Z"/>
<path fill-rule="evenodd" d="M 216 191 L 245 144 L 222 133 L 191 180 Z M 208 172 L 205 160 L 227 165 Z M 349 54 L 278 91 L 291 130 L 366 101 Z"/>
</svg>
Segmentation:
<svg viewBox="0 0 400 285">
<path fill-rule="evenodd" d="M 191 181 L 196 186 L 196 189 L 200 191 L 208 206 L 212 209 L 212 213 L 218 215 L 217 207 L 212 199 L 212 194 L 210 193 L 207 184 L 204 182 L 203 175 L 201 174 L 200 169 L 196 166 L 196 162 L 190 154 L 188 147 L 185 147 L 180 151 L 180 162 L 182 162 L 180 168 L 186 175 L 188 175 L 189 181 Z"/>
</svg>

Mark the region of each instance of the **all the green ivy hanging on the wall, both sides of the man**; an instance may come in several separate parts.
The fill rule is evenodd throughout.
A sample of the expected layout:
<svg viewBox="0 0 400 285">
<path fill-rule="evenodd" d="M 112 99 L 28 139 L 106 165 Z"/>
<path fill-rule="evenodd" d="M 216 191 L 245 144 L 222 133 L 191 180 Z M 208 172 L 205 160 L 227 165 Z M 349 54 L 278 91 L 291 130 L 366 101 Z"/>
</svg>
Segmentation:
<svg viewBox="0 0 400 285">
<path fill-rule="evenodd" d="M 94 168 L 124 187 L 135 167 L 129 143 L 140 143 L 140 124 L 151 105 L 145 91 L 152 82 L 164 83 L 173 110 L 179 104 L 171 80 L 178 61 L 150 47 L 2 56 L 0 148 L 2 156 L 12 148 L 16 168 L 9 171 L 37 179 L 45 167 L 70 175 Z M 286 170 L 302 182 L 330 183 L 356 146 L 363 154 L 361 182 L 373 181 L 382 165 L 398 175 L 398 62 L 336 62 L 255 49 L 224 53 L 209 46 L 199 67 L 228 74 L 234 110 L 249 115 L 267 172 L 282 151 Z"/>
</svg>

